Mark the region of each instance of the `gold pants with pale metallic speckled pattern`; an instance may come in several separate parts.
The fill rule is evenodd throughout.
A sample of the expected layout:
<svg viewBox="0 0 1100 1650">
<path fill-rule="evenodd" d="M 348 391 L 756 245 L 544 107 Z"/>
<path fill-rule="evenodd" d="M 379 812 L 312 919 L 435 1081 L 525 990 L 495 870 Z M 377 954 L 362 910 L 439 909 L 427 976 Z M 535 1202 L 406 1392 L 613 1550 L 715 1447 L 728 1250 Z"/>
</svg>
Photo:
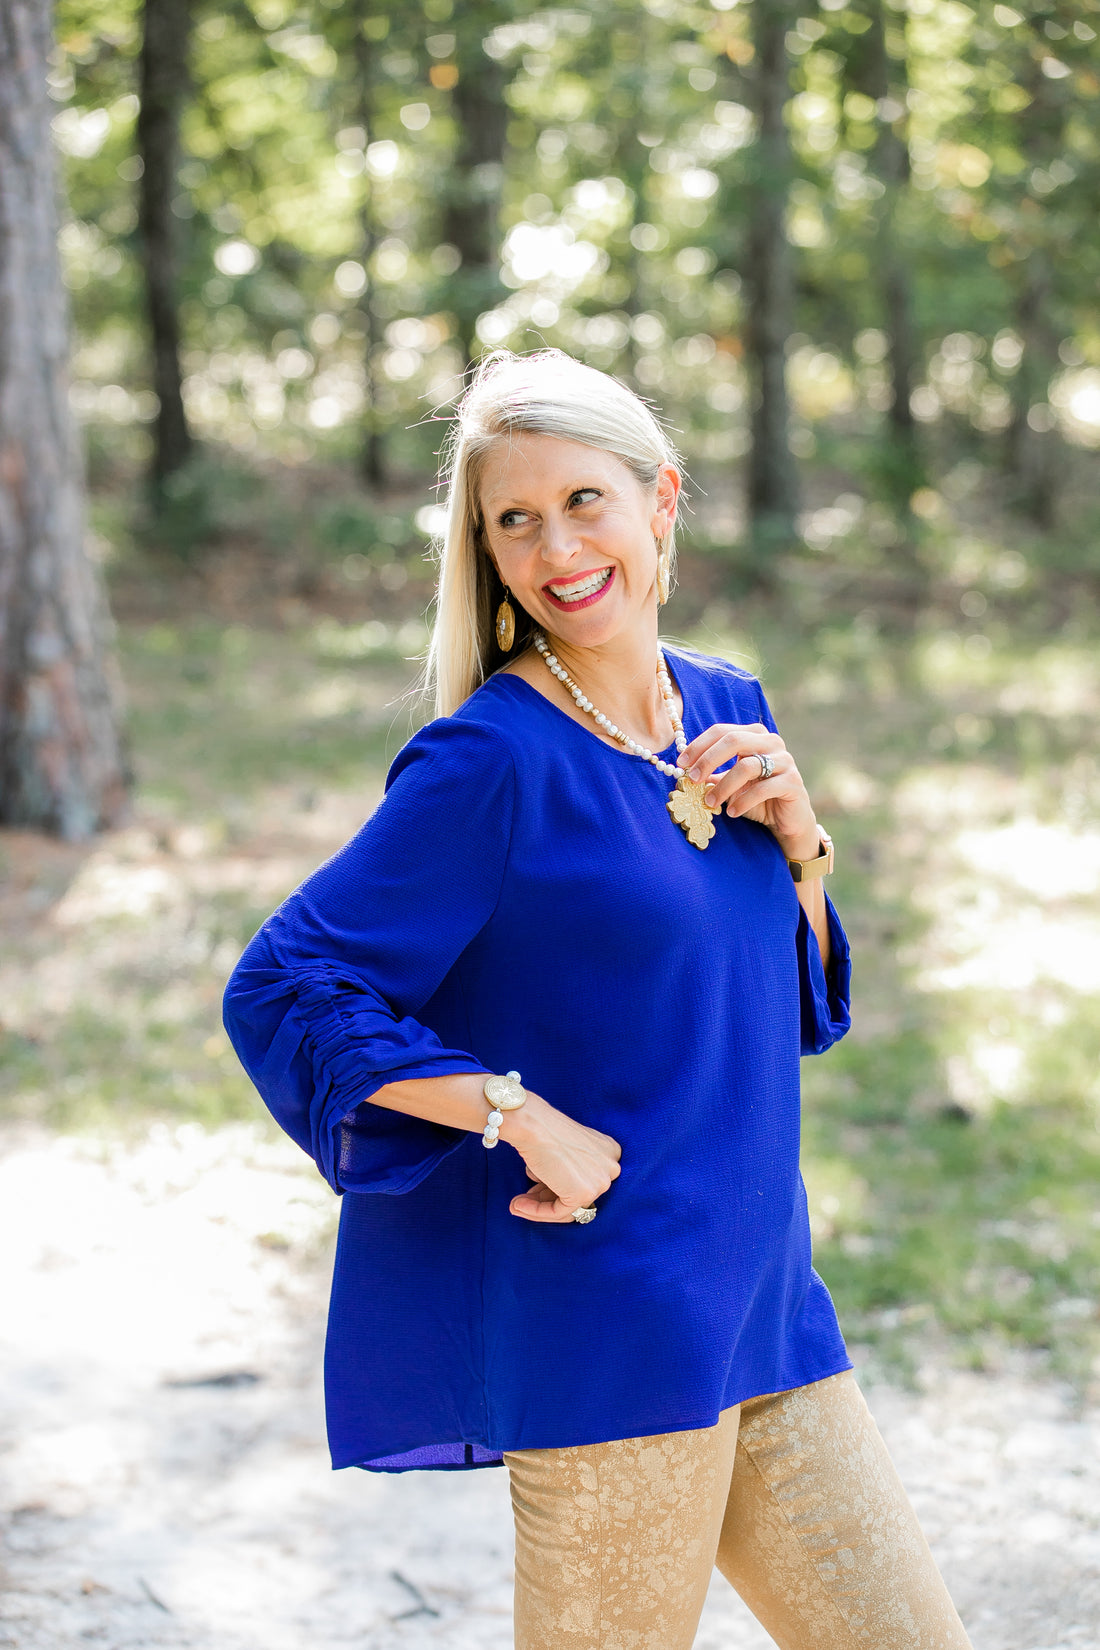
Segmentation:
<svg viewBox="0 0 1100 1650">
<path fill-rule="evenodd" d="M 714 1564 L 780 1650 L 968 1650 L 851 1374 L 505 1455 L 516 1650 L 691 1650 Z"/>
</svg>

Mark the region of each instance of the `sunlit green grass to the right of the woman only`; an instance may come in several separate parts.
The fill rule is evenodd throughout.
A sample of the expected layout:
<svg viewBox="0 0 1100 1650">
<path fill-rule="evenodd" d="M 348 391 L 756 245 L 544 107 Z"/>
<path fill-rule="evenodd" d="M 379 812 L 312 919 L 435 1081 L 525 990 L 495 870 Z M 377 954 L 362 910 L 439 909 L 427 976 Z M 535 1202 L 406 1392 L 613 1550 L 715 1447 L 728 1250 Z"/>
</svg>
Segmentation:
<svg viewBox="0 0 1100 1650">
<path fill-rule="evenodd" d="M 694 639 L 760 665 L 838 842 L 854 1026 L 803 1063 L 803 1165 L 849 1335 L 900 1371 L 932 1330 L 975 1366 L 1029 1348 L 1095 1389 L 1100 898 L 1059 855 L 1100 846 L 1100 627 L 1014 606 L 892 632 L 747 609 Z M 1021 820 L 1054 835 L 988 868 L 960 853 Z M 1055 924 L 1060 977 L 1054 945 L 1054 974 L 1013 985 Z"/>
</svg>

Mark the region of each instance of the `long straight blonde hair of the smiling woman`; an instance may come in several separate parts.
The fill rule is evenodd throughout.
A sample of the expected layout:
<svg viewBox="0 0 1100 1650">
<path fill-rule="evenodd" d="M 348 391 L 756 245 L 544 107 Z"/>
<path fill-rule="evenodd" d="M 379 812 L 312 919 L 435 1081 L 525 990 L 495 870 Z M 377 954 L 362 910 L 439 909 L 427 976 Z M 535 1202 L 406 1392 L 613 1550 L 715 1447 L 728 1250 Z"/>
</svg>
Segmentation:
<svg viewBox="0 0 1100 1650">
<path fill-rule="evenodd" d="M 676 449 L 655 414 L 609 373 L 585 366 L 562 350 L 485 356 L 458 403 L 442 454 L 440 485 L 447 490 L 447 528 L 439 546 L 435 624 L 427 652 L 425 688 L 435 690 L 435 714 L 450 716 L 534 634 L 534 620 L 511 597 L 516 640 L 501 653 L 495 614 L 505 587 L 483 538 L 478 503 L 482 465 L 498 436 L 559 436 L 613 454 L 643 487 L 656 485 L 663 464 L 679 469 Z M 660 540 L 670 586 L 676 566 L 675 523 Z"/>
</svg>

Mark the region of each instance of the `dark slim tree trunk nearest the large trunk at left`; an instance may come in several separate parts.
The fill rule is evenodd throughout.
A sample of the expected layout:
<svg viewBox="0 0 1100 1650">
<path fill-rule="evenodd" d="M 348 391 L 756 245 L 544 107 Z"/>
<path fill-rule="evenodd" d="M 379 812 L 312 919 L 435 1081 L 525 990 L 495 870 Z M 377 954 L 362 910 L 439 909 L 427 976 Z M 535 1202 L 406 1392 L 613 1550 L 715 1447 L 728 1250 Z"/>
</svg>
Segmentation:
<svg viewBox="0 0 1100 1650">
<path fill-rule="evenodd" d="M 158 401 L 152 459 L 155 490 L 186 464 L 193 447 L 183 411 L 178 219 L 172 211 L 180 165 L 180 111 L 188 92 L 190 30 L 191 0 L 145 0 L 137 147 L 143 167 L 139 228 L 145 312 Z"/>
</svg>

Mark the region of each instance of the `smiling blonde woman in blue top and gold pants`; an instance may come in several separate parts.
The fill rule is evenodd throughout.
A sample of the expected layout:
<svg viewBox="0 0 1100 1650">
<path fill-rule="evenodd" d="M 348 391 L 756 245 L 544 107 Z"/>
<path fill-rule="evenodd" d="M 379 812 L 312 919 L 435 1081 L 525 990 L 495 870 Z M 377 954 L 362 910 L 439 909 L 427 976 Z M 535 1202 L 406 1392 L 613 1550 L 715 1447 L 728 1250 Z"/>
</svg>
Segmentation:
<svg viewBox="0 0 1100 1650">
<path fill-rule="evenodd" d="M 760 685 L 658 647 L 675 450 L 501 353 L 447 482 L 439 716 L 226 993 L 346 1193 L 333 1465 L 505 1462 L 521 1650 L 688 1650 L 714 1563 L 792 1650 L 958 1650 L 810 1267 L 831 843 Z"/>
</svg>

